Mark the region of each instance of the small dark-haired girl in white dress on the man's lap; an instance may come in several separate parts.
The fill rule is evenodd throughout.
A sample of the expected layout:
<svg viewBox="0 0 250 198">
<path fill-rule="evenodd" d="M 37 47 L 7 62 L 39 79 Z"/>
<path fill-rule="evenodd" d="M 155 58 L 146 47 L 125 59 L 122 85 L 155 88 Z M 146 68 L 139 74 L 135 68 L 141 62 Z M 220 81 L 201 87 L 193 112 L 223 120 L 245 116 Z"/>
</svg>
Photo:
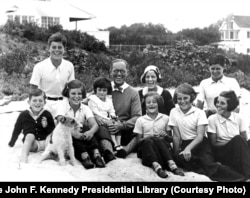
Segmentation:
<svg viewBox="0 0 250 198">
<path fill-rule="evenodd" d="M 116 120 L 115 109 L 112 102 L 112 86 L 110 80 L 104 77 L 97 78 L 94 82 L 94 94 L 89 96 L 88 106 L 98 117 L 99 125 L 107 126 L 108 122 Z M 122 150 L 121 134 L 110 134 L 116 151 Z"/>
</svg>

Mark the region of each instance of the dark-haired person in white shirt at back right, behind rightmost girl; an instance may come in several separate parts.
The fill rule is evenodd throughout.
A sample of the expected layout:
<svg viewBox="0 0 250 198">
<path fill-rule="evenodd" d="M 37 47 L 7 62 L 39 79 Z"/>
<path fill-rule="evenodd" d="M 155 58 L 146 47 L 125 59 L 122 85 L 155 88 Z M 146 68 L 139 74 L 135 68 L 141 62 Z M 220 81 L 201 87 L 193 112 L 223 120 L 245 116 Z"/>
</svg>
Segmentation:
<svg viewBox="0 0 250 198">
<path fill-rule="evenodd" d="M 197 97 L 197 107 L 203 109 L 204 103 L 207 104 L 205 110 L 207 117 L 216 113 L 214 98 L 222 91 L 234 91 L 236 96 L 240 98 L 240 86 L 236 79 L 224 76 L 223 72 L 229 60 L 221 54 L 216 54 L 209 59 L 209 71 L 211 77 L 201 81 L 199 86 L 199 95 Z M 236 112 L 239 108 L 236 107 Z"/>
</svg>

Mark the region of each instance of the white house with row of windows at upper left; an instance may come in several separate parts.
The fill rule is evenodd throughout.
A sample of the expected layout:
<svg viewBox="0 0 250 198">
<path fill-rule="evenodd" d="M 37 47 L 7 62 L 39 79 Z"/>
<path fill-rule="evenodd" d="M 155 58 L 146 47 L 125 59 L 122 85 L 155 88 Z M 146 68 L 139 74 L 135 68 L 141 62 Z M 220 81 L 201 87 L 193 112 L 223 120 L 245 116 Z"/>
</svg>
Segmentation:
<svg viewBox="0 0 250 198">
<path fill-rule="evenodd" d="M 65 1 L 7 0 L 1 2 L 0 11 L 0 25 L 5 24 L 7 20 L 35 22 L 44 28 L 60 24 L 63 29 L 80 30 L 95 36 L 109 46 L 109 31 L 90 30 L 87 25 L 96 17 Z"/>
</svg>

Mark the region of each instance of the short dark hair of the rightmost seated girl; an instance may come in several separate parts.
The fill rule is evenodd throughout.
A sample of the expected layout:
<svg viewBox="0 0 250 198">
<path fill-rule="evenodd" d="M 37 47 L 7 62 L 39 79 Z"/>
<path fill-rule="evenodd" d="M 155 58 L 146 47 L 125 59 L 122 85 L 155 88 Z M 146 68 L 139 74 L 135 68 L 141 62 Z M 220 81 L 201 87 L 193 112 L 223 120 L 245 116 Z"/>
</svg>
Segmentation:
<svg viewBox="0 0 250 198">
<path fill-rule="evenodd" d="M 227 99 L 227 111 L 233 111 L 239 105 L 239 99 L 236 96 L 234 91 L 223 91 L 219 96 L 222 96 Z M 214 99 L 214 106 L 218 101 L 218 96 Z"/>
</svg>

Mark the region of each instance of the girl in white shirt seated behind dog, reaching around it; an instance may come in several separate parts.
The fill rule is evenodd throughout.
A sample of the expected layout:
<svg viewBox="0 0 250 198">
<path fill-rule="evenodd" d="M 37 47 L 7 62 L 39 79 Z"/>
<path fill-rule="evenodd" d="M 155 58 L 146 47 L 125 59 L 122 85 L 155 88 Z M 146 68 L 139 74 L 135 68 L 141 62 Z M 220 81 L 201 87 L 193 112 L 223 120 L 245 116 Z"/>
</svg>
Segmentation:
<svg viewBox="0 0 250 198">
<path fill-rule="evenodd" d="M 72 80 L 65 85 L 62 94 L 67 97 L 67 100 L 64 100 L 58 106 L 56 119 L 61 119 L 61 116 L 75 118 L 82 128 L 80 133 L 72 134 L 76 158 L 81 161 L 86 169 L 94 168 L 93 162 L 96 167 L 105 167 L 98 150 L 97 141 L 94 138 L 94 134 L 98 130 L 98 124 L 90 108 L 82 104 L 82 100 L 86 97 L 84 84 L 79 80 Z M 92 160 L 89 154 L 91 154 Z"/>
</svg>

